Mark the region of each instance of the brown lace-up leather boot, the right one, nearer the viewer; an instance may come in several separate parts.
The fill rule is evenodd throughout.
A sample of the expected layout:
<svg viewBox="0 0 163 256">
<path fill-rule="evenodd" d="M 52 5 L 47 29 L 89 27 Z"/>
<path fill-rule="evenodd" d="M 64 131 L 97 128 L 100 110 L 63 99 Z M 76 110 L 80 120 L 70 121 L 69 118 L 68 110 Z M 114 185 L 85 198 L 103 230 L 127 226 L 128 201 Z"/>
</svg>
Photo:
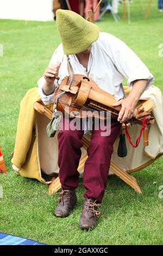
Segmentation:
<svg viewBox="0 0 163 256">
<path fill-rule="evenodd" d="M 79 227 L 82 229 L 93 229 L 96 227 L 96 216 L 100 212 L 97 209 L 100 207 L 94 199 L 86 199 L 83 205 L 83 212 L 80 217 Z"/>
</svg>

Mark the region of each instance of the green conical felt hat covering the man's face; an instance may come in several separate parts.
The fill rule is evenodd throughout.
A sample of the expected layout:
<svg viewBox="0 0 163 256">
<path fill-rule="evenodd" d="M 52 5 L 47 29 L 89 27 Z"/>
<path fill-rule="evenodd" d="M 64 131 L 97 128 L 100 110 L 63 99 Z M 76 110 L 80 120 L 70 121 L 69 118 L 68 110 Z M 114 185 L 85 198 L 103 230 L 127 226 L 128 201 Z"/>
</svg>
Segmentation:
<svg viewBox="0 0 163 256">
<path fill-rule="evenodd" d="M 83 52 L 98 39 L 99 27 L 74 11 L 59 9 L 56 15 L 65 54 Z"/>
</svg>

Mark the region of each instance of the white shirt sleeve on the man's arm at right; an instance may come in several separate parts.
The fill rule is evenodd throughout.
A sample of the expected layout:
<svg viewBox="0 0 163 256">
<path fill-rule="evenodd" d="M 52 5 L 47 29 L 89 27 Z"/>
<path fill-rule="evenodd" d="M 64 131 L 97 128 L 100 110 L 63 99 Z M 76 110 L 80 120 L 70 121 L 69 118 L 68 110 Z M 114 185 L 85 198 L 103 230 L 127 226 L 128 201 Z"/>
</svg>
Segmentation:
<svg viewBox="0 0 163 256">
<path fill-rule="evenodd" d="M 110 40 L 109 40 L 110 39 Z M 127 78 L 130 89 L 135 80 L 148 80 L 146 90 L 153 84 L 154 77 L 139 57 L 120 39 L 113 35 L 108 38 L 115 68 Z"/>
</svg>

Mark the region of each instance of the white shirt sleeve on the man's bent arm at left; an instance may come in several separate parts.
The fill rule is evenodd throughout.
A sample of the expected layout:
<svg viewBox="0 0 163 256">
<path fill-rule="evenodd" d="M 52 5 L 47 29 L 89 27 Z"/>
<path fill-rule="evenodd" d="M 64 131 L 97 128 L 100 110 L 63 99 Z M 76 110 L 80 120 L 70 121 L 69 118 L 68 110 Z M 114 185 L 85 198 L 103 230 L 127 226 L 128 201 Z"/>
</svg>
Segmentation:
<svg viewBox="0 0 163 256">
<path fill-rule="evenodd" d="M 53 56 L 52 56 L 52 58 L 51 58 L 51 60 L 50 60 L 50 62 L 49 62 L 49 65 L 50 64 L 57 64 L 58 62 L 62 62 L 62 58 L 63 58 L 63 56 L 64 56 L 64 53 L 63 53 L 63 51 L 62 51 L 62 45 L 60 44 L 59 46 L 58 46 L 58 48 L 55 50 L 55 52 L 53 53 Z M 40 79 L 39 79 L 39 81 L 37 81 L 37 85 L 38 85 L 38 93 L 39 93 L 39 95 L 41 96 L 41 100 L 42 100 L 42 102 L 45 104 L 45 105 L 48 105 L 48 104 L 50 104 L 50 103 L 53 103 L 54 102 L 54 92 L 55 92 L 55 90 L 54 90 L 54 92 L 52 93 L 52 94 L 50 94 L 50 95 L 45 95 L 44 93 L 43 93 L 43 90 L 42 90 L 42 88 L 43 88 L 43 85 L 45 84 L 45 78 L 42 76 Z M 55 88 L 55 86 L 57 86 L 57 80 L 55 80 L 54 81 L 54 88 Z"/>
</svg>

